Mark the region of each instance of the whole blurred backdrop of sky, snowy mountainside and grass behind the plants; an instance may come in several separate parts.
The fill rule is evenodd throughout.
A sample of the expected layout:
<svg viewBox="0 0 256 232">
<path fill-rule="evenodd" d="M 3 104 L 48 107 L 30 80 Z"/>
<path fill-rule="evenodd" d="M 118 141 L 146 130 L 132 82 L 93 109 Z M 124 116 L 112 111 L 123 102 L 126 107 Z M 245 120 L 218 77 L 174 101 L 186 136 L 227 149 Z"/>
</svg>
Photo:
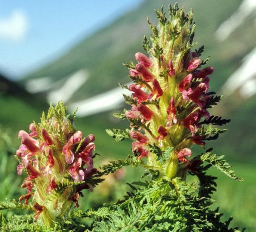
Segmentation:
<svg viewBox="0 0 256 232">
<path fill-rule="evenodd" d="M 28 131 L 40 121 L 49 102 L 63 100 L 70 112 L 78 107 L 76 128 L 96 136 L 96 165 L 125 158 L 130 142 L 118 144 L 105 129 L 126 128 L 128 123 L 112 116 L 126 106 L 118 82 L 129 83 L 122 65 L 144 52 L 141 40 L 149 38 L 146 22 L 156 23 L 153 9 L 165 9 L 172 0 L 4 1 L 0 0 L 0 200 L 24 194 L 16 175 L 13 155 L 18 131 Z M 233 216 L 233 226 L 256 231 L 256 1 L 180 0 L 185 12 L 194 10 L 197 24 L 194 41 L 205 46 L 211 91 L 224 95 L 212 114 L 231 118 L 228 132 L 207 144 L 225 155 L 236 174 L 236 183 L 218 176 L 213 195 L 215 207 Z M 138 179 L 139 169 L 126 168 L 80 199 L 82 207 L 121 198 L 125 182 Z M 118 185 L 115 184 L 118 182 Z M 93 197 L 94 195 L 94 197 Z M 95 198 L 95 196 L 97 196 Z M 100 197 L 99 197 L 100 196 Z M 7 212 L 7 214 L 10 212 Z"/>
</svg>

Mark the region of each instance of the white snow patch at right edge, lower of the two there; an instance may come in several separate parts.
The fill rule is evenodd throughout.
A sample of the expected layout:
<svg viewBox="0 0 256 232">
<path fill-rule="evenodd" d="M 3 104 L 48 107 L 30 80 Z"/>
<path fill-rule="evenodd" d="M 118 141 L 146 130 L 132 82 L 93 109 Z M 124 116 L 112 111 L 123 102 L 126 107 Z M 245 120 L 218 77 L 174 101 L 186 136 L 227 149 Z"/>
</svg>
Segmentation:
<svg viewBox="0 0 256 232">
<path fill-rule="evenodd" d="M 256 94 L 256 48 L 243 58 L 243 63 L 228 78 L 221 91 L 230 95 L 237 89 L 242 98 Z"/>
</svg>

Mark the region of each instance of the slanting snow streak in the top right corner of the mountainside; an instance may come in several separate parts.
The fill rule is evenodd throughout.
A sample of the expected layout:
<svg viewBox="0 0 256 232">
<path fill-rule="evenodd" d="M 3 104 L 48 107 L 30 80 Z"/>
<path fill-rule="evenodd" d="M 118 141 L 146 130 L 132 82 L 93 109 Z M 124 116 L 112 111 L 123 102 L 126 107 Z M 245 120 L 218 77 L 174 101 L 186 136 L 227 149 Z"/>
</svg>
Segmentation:
<svg viewBox="0 0 256 232">
<path fill-rule="evenodd" d="M 224 41 L 228 36 L 239 27 L 244 19 L 256 10 L 256 0 L 243 0 L 238 9 L 225 21 L 215 32 L 218 40 Z"/>
</svg>

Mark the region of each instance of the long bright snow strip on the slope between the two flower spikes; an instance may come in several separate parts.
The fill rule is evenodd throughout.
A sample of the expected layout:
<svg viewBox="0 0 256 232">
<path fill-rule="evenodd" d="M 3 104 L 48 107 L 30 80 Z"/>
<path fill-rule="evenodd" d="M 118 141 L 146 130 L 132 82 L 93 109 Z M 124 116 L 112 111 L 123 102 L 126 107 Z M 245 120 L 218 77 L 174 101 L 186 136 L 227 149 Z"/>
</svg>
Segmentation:
<svg viewBox="0 0 256 232">
<path fill-rule="evenodd" d="M 72 112 L 78 107 L 77 117 L 84 117 L 110 111 L 123 105 L 123 94 L 130 96 L 131 93 L 127 89 L 121 89 L 120 87 L 117 87 L 86 100 L 74 102 L 70 104 L 68 108 Z"/>
</svg>

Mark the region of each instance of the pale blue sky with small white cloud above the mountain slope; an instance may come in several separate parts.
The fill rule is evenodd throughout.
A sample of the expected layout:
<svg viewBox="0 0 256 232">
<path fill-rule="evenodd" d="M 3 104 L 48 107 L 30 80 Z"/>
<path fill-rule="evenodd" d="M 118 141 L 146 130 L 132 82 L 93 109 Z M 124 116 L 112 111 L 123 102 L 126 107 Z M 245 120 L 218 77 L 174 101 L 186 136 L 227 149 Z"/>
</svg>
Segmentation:
<svg viewBox="0 0 256 232">
<path fill-rule="evenodd" d="M 143 0 L 0 0 L 0 73 L 18 79 Z"/>
</svg>

